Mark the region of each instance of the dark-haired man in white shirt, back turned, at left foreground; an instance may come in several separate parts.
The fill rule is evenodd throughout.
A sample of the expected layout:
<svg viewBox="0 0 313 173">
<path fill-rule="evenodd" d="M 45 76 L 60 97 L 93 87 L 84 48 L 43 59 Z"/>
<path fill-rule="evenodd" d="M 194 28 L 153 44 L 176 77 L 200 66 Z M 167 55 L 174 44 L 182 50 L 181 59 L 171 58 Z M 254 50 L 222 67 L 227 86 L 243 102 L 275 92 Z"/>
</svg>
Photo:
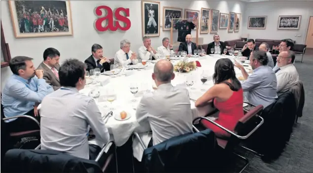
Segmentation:
<svg viewBox="0 0 313 173">
<path fill-rule="evenodd" d="M 41 149 L 66 152 L 75 157 L 94 160 L 109 133 L 96 102 L 79 93 L 86 84 L 83 62 L 66 60 L 59 70 L 61 88 L 41 102 Z M 102 146 L 88 143 L 89 126 Z"/>
</svg>

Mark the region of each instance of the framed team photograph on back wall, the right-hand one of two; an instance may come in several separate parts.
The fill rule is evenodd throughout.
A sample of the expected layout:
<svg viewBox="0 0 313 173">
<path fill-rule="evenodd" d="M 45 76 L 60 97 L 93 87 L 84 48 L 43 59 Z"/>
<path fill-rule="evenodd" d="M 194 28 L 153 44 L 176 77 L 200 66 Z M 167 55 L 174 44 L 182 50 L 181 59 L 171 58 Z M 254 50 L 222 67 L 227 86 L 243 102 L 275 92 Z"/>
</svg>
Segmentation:
<svg viewBox="0 0 313 173">
<path fill-rule="evenodd" d="M 301 15 L 279 16 L 278 30 L 299 30 Z"/>
</svg>

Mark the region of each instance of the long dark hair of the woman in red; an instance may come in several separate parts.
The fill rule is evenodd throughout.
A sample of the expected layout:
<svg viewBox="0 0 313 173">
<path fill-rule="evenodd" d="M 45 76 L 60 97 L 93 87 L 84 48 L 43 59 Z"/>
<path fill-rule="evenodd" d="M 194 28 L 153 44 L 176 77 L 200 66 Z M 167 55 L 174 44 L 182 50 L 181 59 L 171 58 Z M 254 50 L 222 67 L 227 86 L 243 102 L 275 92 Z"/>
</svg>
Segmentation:
<svg viewBox="0 0 313 173">
<path fill-rule="evenodd" d="M 226 80 L 231 79 L 231 85 Z M 216 61 L 213 74 L 214 84 L 225 83 L 231 90 L 238 91 L 242 86 L 236 77 L 234 64 L 228 58 L 221 58 Z"/>
</svg>

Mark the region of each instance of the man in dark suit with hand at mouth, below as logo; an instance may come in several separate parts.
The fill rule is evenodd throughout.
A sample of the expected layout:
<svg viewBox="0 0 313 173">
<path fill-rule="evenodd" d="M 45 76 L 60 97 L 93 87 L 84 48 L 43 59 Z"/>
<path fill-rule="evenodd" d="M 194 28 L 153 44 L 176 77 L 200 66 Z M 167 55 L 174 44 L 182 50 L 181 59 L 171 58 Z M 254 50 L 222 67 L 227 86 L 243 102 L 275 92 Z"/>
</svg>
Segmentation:
<svg viewBox="0 0 313 173">
<path fill-rule="evenodd" d="M 91 47 L 92 55 L 85 60 L 87 71 L 99 68 L 100 72 L 109 71 L 111 62 L 103 57 L 103 48 L 99 44 L 94 44 Z"/>
</svg>

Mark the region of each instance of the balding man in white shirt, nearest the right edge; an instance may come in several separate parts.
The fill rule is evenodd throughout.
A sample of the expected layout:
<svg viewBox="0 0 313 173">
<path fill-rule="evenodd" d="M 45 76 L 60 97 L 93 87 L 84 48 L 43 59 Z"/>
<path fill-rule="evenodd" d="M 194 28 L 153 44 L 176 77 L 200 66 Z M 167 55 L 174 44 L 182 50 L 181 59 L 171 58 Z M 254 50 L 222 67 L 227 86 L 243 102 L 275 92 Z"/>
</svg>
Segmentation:
<svg viewBox="0 0 313 173">
<path fill-rule="evenodd" d="M 277 78 L 277 92 L 288 91 L 299 82 L 299 74 L 293 65 L 295 54 L 290 51 L 282 51 L 277 58 L 278 69 L 275 71 Z"/>
</svg>

